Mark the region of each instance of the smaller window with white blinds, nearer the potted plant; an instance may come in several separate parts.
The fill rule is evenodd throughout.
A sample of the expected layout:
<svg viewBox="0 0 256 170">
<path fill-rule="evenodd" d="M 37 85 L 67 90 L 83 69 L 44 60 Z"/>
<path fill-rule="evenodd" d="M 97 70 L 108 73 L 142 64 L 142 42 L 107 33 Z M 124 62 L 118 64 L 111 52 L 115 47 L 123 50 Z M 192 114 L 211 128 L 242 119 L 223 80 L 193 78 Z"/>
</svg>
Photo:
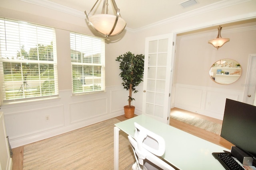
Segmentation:
<svg viewBox="0 0 256 170">
<path fill-rule="evenodd" d="M 73 93 L 105 90 L 105 41 L 70 33 Z"/>
</svg>

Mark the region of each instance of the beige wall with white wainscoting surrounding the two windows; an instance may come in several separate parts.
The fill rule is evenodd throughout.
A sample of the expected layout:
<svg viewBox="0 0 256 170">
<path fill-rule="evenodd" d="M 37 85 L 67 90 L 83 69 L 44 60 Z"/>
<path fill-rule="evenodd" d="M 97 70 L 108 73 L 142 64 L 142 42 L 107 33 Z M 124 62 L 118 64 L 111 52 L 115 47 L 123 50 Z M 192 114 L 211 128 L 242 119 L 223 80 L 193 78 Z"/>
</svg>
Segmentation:
<svg viewBox="0 0 256 170">
<path fill-rule="evenodd" d="M 1 106 L 13 148 L 124 114 L 128 92 L 121 85 L 119 63 L 115 59 L 133 50 L 134 44 L 127 42 L 132 41 L 134 34 L 124 31 L 106 41 L 106 92 L 72 96 L 69 33 L 98 35 L 88 27 L 84 14 L 76 17 L 21 0 L 1 0 L 0 17 L 56 28 L 59 97 Z M 136 114 L 141 114 L 140 106 L 136 107 Z"/>
</svg>

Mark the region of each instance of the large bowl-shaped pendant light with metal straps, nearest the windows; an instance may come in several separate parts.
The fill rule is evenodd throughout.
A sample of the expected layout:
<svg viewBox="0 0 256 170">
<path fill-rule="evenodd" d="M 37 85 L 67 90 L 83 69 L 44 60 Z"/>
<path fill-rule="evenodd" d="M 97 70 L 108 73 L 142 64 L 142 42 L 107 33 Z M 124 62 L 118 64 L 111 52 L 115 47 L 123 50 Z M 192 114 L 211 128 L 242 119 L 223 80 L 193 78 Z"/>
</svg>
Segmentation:
<svg viewBox="0 0 256 170">
<path fill-rule="evenodd" d="M 114 7 L 114 11 L 116 13 L 115 15 L 108 14 L 108 0 L 104 0 L 101 14 L 89 16 L 93 8 L 98 3 L 98 1 L 99 0 L 96 1 L 96 3 L 94 4 L 94 6 L 88 14 L 86 13 L 86 11 L 84 11 L 84 14 L 86 15 L 86 18 L 90 25 L 96 31 L 98 31 L 100 34 L 106 37 L 118 35 L 122 31 L 124 31 L 126 21 L 124 21 L 124 19 L 121 18 L 120 10 L 117 8 L 115 0 L 111 0 Z"/>
</svg>

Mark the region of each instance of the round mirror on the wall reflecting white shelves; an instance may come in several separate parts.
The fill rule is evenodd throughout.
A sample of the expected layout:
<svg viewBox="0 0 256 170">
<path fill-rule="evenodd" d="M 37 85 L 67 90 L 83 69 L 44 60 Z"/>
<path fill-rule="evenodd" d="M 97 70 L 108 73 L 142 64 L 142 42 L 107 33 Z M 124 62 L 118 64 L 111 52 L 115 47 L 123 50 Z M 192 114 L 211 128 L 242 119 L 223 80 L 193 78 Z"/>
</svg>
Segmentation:
<svg viewBox="0 0 256 170">
<path fill-rule="evenodd" d="M 212 64 L 210 77 L 219 84 L 231 84 L 236 82 L 242 74 L 242 68 L 237 61 L 221 59 Z"/>
</svg>

